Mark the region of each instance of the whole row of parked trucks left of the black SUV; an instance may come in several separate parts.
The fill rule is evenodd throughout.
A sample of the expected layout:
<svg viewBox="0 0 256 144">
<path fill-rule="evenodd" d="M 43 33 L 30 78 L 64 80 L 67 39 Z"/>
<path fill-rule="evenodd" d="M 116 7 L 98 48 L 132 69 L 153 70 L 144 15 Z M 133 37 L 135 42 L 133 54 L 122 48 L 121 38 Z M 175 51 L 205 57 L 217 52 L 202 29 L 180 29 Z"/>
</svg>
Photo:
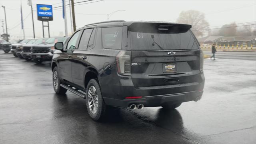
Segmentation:
<svg viewBox="0 0 256 144">
<path fill-rule="evenodd" d="M 2 43 L 2 50 L 5 53 L 12 52 L 15 57 L 26 60 L 34 60 L 36 64 L 44 61 L 51 61 L 54 53 L 54 44 L 64 42 L 66 37 L 34 38 L 25 39 L 18 43 Z"/>
</svg>

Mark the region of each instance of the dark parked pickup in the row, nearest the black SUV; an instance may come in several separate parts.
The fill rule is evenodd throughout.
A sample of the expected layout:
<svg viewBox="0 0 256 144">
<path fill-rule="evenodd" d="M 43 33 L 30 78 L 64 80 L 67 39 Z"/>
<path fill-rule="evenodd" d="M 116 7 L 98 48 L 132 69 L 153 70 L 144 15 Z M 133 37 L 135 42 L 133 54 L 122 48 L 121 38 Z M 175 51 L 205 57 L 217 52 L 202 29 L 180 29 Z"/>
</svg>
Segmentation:
<svg viewBox="0 0 256 144">
<path fill-rule="evenodd" d="M 36 64 L 44 61 L 51 61 L 54 53 L 54 44 L 56 42 L 64 42 L 65 37 L 52 37 L 46 40 L 43 44 L 36 44 L 31 47 L 31 58 Z"/>
</svg>

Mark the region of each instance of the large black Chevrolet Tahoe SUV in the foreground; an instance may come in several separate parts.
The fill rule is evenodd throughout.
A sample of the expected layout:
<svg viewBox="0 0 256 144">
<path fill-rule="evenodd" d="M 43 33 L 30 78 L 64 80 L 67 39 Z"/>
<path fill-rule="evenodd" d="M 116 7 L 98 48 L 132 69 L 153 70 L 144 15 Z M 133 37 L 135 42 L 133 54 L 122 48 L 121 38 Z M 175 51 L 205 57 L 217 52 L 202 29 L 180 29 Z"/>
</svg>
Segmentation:
<svg viewBox="0 0 256 144">
<path fill-rule="evenodd" d="M 55 44 L 54 90 L 85 98 L 93 120 L 111 107 L 173 109 L 200 100 L 204 57 L 190 28 L 123 20 L 86 25 Z"/>
</svg>

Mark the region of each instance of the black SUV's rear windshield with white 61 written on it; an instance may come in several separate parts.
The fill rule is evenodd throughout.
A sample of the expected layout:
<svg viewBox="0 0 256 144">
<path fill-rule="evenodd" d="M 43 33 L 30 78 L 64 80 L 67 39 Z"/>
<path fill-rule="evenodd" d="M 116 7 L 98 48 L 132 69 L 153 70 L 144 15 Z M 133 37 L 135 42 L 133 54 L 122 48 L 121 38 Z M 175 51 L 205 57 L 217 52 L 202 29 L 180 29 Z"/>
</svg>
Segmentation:
<svg viewBox="0 0 256 144">
<path fill-rule="evenodd" d="M 175 28 L 176 27 L 176 28 Z M 186 50 L 198 49 L 189 28 L 147 26 L 130 31 L 132 50 Z"/>
</svg>

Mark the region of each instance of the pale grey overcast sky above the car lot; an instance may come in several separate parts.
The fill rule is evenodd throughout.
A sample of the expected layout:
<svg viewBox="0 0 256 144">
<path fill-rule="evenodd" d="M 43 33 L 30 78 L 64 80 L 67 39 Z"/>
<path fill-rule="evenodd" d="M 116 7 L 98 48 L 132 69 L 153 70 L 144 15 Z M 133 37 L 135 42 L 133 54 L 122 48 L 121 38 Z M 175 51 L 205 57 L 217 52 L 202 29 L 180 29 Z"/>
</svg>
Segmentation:
<svg viewBox="0 0 256 144">
<path fill-rule="evenodd" d="M 74 0 L 81 2 L 85 0 Z M 98 0 L 94 0 L 98 1 Z M 79 3 L 75 6 L 76 26 L 80 28 L 85 24 L 107 20 L 107 14 L 115 10 L 119 11 L 110 17 L 110 20 L 157 20 L 176 22 L 181 11 L 199 10 L 204 12 L 210 28 L 230 24 L 232 22 L 244 23 L 256 21 L 256 0 L 103 0 L 93 3 Z M 22 38 L 23 31 L 20 25 L 20 4 L 22 3 L 24 28 L 26 38 L 32 38 L 31 8 L 27 0 L 0 0 L 0 5 L 6 7 L 8 34 L 11 38 Z M 88 4 L 86 4 L 88 3 Z M 50 4 L 53 7 L 61 6 L 62 0 L 32 0 L 33 8 L 36 4 Z M 66 0 L 68 4 L 68 0 Z M 68 33 L 71 34 L 70 13 L 67 6 Z M 4 10 L 0 8 L 0 20 L 4 19 Z M 50 21 L 50 36 L 65 34 L 62 8 L 53 9 L 53 21 Z M 36 37 L 42 37 L 42 22 L 37 20 L 34 11 L 34 25 Z M 2 22 L 0 22 L 2 26 Z M 2 34 L 2 27 L 0 27 Z M 45 28 L 47 32 L 48 29 Z M 46 33 L 48 36 L 48 33 Z M 15 36 L 15 37 L 13 37 Z"/>
</svg>

